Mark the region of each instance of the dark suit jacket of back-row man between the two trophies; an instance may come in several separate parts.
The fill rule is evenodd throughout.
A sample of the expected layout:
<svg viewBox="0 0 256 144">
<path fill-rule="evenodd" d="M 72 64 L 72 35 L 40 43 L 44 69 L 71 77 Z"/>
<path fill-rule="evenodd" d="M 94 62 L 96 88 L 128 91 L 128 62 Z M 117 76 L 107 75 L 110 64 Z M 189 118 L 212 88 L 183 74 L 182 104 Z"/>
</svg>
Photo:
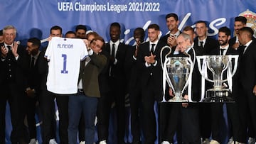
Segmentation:
<svg viewBox="0 0 256 144">
<path fill-rule="evenodd" d="M 194 48 L 199 48 L 198 50 L 200 50 L 201 55 L 209 55 L 212 50 L 218 47 L 218 40 L 207 37 L 203 50 L 201 50 L 201 48 L 198 45 L 198 37 L 196 37 L 194 40 Z"/>
</svg>

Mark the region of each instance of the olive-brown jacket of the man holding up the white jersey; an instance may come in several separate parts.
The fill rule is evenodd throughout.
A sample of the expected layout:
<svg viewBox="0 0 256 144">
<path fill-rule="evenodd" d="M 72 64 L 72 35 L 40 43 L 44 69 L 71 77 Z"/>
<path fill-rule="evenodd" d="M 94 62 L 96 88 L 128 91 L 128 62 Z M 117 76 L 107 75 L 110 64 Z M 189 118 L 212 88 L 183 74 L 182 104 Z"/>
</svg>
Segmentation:
<svg viewBox="0 0 256 144">
<path fill-rule="evenodd" d="M 93 52 L 90 55 L 90 62 L 85 66 L 85 60 L 81 62 L 79 81 L 82 79 L 82 89 L 86 96 L 100 97 L 99 74 L 107 64 L 107 57 L 97 55 Z M 78 81 L 78 82 L 79 82 Z"/>
</svg>

